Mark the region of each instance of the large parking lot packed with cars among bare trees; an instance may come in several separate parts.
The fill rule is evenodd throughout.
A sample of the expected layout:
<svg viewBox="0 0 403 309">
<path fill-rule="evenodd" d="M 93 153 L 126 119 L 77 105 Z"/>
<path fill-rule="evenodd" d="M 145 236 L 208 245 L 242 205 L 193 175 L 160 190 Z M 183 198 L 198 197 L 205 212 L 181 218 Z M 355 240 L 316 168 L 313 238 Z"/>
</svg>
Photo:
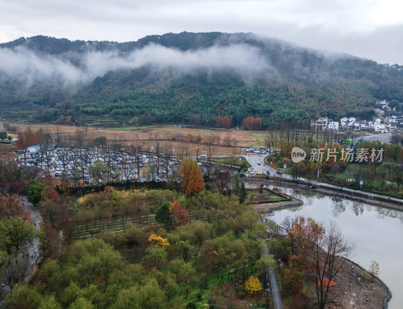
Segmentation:
<svg viewBox="0 0 403 309">
<path fill-rule="evenodd" d="M 163 153 L 50 146 L 25 151 L 17 163 L 30 168 L 37 177 L 68 178 L 74 183 L 97 185 L 127 179 L 175 180 L 180 162 Z"/>
</svg>

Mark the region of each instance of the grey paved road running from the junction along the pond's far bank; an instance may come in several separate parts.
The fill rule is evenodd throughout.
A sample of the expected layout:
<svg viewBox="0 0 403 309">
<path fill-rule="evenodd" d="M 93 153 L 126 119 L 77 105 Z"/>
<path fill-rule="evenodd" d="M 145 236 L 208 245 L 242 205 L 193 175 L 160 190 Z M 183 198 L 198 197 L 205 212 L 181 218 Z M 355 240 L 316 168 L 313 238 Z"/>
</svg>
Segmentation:
<svg viewBox="0 0 403 309">
<path fill-rule="evenodd" d="M 381 134 L 379 134 L 379 135 L 381 135 Z M 247 159 L 247 161 L 250 163 L 250 165 L 253 167 L 253 169 L 255 171 L 257 171 L 258 173 L 265 174 L 267 171 L 269 171 L 272 176 L 276 175 L 277 170 L 275 170 L 272 167 L 267 166 L 267 165 L 265 165 L 263 163 L 263 159 L 265 157 L 267 157 L 267 154 L 264 154 L 264 155 L 248 155 L 248 156 L 244 156 L 244 157 Z M 260 165 L 258 163 L 260 163 Z M 292 180 L 292 177 L 289 174 L 283 173 L 280 177 L 282 179 Z M 322 183 L 322 182 L 316 181 L 316 180 L 305 180 L 303 183 L 306 183 L 306 184 L 309 183 L 309 184 L 311 184 L 313 186 L 322 187 L 322 188 L 325 188 L 325 189 L 327 188 L 327 189 L 330 189 L 330 190 L 343 191 L 344 193 L 348 193 L 348 194 L 351 194 L 351 195 L 360 195 L 360 196 L 364 196 L 364 197 L 371 198 L 371 199 L 377 198 L 377 199 L 381 199 L 381 200 L 390 200 L 390 201 L 393 201 L 393 202 L 403 204 L 403 199 L 396 198 L 396 197 L 389 197 L 389 196 L 386 196 L 386 195 L 383 195 L 383 194 L 377 194 L 377 193 L 371 193 L 371 192 L 366 192 L 366 191 L 362 191 L 362 190 L 356 190 L 356 189 L 340 187 L 340 186 L 336 186 L 336 185 L 332 185 L 332 184 Z"/>
</svg>

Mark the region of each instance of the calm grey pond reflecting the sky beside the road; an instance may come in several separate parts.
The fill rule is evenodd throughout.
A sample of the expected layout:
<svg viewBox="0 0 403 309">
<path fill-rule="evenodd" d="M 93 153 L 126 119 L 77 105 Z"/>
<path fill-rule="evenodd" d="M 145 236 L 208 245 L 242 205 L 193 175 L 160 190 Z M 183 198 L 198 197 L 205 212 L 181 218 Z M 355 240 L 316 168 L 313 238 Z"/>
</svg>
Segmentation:
<svg viewBox="0 0 403 309">
<path fill-rule="evenodd" d="M 269 186 L 270 187 L 270 186 Z M 401 308 L 403 303 L 403 212 L 366 203 L 331 197 L 308 190 L 281 188 L 283 193 L 304 202 L 302 206 L 278 210 L 270 219 L 280 224 L 286 216 L 311 217 L 317 221 L 334 220 L 346 240 L 356 244 L 351 258 L 364 268 L 370 261 L 379 263 L 379 278 L 392 292 L 389 308 Z"/>
</svg>

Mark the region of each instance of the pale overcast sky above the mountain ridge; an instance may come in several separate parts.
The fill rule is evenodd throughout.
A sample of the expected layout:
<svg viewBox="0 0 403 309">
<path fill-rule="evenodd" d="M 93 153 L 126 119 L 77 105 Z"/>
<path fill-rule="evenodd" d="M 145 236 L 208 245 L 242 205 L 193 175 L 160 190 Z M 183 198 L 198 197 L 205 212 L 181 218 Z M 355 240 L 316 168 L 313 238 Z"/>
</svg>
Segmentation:
<svg viewBox="0 0 403 309">
<path fill-rule="evenodd" d="M 398 0 L 0 0 L 0 42 L 47 35 L 133 41 L 168 32 L 254 32 L 403 65 Z"/>
</svg>

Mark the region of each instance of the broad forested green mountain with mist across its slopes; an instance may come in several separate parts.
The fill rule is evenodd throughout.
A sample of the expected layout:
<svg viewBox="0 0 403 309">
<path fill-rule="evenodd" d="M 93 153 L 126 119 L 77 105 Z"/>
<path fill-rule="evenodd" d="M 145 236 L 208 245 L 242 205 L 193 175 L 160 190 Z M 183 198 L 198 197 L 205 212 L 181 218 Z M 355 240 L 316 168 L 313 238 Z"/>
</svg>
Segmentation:
<svg viewBox="0 0 403 309">
<path fill-rule="evenodd" d="M 254 116 L 265 127 L 368 118 L 376 100 L 403 101 L 403 66 L 251 33 L 169 33 L 125 43 L 36 36 L 0 44 L 0 59 L 3 116 L 35 111 L 35 121 L 215 125 L 218 116 L 234 124 Z"/>
</svg>

